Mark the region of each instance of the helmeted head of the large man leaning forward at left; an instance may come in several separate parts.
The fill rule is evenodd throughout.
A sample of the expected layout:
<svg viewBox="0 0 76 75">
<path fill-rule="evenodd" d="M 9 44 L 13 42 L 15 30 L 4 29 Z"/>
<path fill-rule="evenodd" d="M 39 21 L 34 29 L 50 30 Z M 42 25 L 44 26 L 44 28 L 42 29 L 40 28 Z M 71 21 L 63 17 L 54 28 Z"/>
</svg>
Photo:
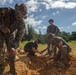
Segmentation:
<svg viewBox="0 0 76 75">
<path fill-rule="evenodd" d="M 27 18 L 27 7 L 25 4 L 16 4 L 15 10 L 18 13 L 18 15 L 22 18 Z"/>
</svg>

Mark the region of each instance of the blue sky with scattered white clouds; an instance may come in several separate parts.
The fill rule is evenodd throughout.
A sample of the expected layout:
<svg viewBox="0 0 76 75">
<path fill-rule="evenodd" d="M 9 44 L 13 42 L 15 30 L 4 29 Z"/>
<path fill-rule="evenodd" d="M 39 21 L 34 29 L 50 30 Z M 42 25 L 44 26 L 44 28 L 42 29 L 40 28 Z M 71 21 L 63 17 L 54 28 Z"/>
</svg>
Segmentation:
<svg viewBox="0 0 76 75">
<path fill-rule="evenodd" d="M 25 25 L 32 25 L 37 33 L 46 33 L 49 19 L 60 31 L 76 31 L 76 0 L 0 0 L 0 7 L 14 8 L 16 3 L 27 6 Z"/>
</svg>

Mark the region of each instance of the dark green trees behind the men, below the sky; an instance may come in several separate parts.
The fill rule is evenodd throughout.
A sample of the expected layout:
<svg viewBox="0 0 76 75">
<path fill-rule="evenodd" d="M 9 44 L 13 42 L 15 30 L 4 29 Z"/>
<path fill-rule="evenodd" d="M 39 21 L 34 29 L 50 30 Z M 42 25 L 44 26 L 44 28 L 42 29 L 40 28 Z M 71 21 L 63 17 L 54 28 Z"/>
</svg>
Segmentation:
<svg viewBox="0 0 76 75">
<path fill-rule="evenodd" d="M 62 37 L 67 42 L 76 40 L 76 31 L 73 31 L 72 33 L 62 31 L 59 34 L 60 37 Z M 42 34 L 41 30 L 39 30 L 39 34 L 34 30 L 32 25 L 27 25 L 27 28 L 25 30 L 24 37 L 22 41 L 30 41 L 30 40 L 36 40 L 37 38 L 41 38 L 44 43 L 46 43 L 46 33 Z"/>
</svg>

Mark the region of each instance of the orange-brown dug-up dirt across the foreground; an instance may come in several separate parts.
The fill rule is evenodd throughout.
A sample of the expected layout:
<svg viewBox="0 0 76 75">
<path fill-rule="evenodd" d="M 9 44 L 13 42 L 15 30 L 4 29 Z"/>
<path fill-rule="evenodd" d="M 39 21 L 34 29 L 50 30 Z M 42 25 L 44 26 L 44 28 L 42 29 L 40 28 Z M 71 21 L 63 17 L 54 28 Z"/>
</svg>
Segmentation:
<svg viewBox="0 0 76 75">
<path fill-rule="evenodd" d="M 64 64 L 60 61 L 47 60 L 47 57 L 20 56 L 16 62 L 18 75 L 76 75 L 76 59 Z"/>
</svg>

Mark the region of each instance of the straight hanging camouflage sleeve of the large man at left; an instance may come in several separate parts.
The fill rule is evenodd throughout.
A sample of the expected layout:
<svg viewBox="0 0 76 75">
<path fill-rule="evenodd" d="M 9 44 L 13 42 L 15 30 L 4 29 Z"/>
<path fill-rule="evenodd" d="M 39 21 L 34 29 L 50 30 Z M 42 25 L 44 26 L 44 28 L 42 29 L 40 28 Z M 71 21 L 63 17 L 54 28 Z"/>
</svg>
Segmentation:
<svg viewBox="0 0 76 75">
<path fill-rule="evenodd" d="M 23 38 L 24 32 L 25 32 L 25 24 L 22 23 L 18 27 L 18 30 L 16 32 L 15 40 L 14 40 L 14 43 L 12 45 L 14 48 L 18 48 L 19 47 L 19 44 L 20 44 L 20 42 L 21 42 L 21 40 Z"/>
</svg>

